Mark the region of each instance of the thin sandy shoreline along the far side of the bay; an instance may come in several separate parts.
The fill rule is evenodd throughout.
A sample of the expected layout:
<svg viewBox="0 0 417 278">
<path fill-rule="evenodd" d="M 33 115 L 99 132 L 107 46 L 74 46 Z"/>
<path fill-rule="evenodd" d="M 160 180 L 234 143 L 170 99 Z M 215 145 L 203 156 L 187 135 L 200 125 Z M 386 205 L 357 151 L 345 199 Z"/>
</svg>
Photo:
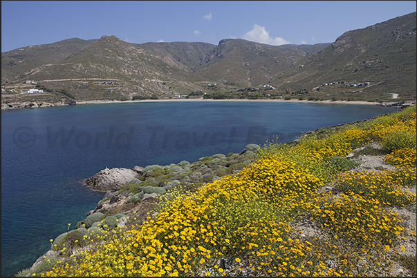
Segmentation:
<svg viewBox="0 0 417 278">
<path fill-rule="evenodd" d="M 85 105 L 85 104 L 104 104 L 104 103 L 140 103 L 140 102 L 175 102 L 175 101 L 223 101 L 223 102 L 281 102 L 281 103 L 328 103 L 328 104 L 357 104 L 357 105 L 373 105 L 373 106 L 398 106 L 397 104 L 413 105 L 416 101 L 407 100 L 407 101 L 392 101 L 392 102 L 371 102 L 371 101 L 332 101 L 332 100 L 322 100 L 322 101 L 311 101 L 311 100 L 299 100 L 299 99 L 203 99 L 203 98 L 191 98 L 191 99 L 145 99 L 145 100 L 129 100 L 129 101 L 110 101 L 110 100 L 92 100 L 92 101 L 77 101 L 75 104 L 64 104 L 64 103 L 48 103 L 46 106 L 39 106 L 36 101 L 27 101 L 27 102 L 16 102 L 15 104 L 25 105 L 25 103 L 36 103 L 34 107 L 30 108 L 45 108 L 45 107 L 55 107 L 55 106 L 73 106 L 73 105 Z M 11 105 L 13 103 L 10 103 Z M 400 107 L 400 106 L 399 106 Z M 401 108 L 401 107 L 400 107 Z M 2 103 L 1 110 L 20 110 L 28 109 L 25 107 L 13 107 L 9 108 L 8 104 Z"/>
</svg>

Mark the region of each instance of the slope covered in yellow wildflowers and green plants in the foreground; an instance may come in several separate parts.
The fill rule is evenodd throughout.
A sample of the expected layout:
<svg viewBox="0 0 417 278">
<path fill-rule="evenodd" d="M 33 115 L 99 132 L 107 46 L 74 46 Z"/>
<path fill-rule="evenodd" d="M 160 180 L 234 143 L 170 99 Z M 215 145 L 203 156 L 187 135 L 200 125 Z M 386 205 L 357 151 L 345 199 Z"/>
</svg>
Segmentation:
<svg viewBox="0 0 417 278">
<path fill-rule="evenodd" d="M 346 155 L 370 142 L 382 144 L 394 170 L 352 170 L 357 163 Z M 68 241 L 55 266 L 24 274 L 415 276 L 415 245 L 414 255 L 405 246 L 415 226 L 396 212 L 416 211 L 415 187 L 411 106 L 270 142 L 240 172 L 192 191 L 174 186 L 144 223 L 131 217 L 124 228 Z"/>
</svg>

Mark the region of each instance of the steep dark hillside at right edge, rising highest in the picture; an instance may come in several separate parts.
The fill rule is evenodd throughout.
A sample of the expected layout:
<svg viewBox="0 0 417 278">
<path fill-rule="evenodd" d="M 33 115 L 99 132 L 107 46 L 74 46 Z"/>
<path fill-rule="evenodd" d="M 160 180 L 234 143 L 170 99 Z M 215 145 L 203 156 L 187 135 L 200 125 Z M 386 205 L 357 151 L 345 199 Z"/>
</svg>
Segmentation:
<svg viewBox="0 0 417 278">
<path fill-rule="evenodd" d="M 345 32 L 330 46 L 299 59 L 277 88 L 311 89 L 346 81 L 371 85 L 364 92 L 416 95 L 416 12 Z"/>
</svg>

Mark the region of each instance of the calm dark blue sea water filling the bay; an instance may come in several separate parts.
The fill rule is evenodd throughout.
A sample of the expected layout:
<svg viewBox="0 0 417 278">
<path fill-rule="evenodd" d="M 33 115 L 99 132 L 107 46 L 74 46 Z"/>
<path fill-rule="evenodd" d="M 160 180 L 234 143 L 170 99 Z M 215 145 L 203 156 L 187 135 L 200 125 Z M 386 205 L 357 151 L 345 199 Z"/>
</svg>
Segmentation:
<svg viewBox="0 0 417 278">
<path fill-rule="evenodd" d="M 1 275 L 30 267 L 104 193 L 79 181 L 104 168 L 168 165 L 292 141 L 394 108 L 240 101 L 106 103 L 1 111 Z"/>
</svg>

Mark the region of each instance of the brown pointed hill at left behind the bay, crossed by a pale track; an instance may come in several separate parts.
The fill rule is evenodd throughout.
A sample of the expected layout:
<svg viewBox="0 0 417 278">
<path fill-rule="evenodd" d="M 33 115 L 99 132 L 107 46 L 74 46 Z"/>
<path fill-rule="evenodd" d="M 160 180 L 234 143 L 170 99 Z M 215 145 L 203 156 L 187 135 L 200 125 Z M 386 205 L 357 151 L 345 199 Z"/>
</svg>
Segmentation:
<svg viewBox="0 0 417 278">
<path fill-rule="evenodd" d="M 194 73 L 173 59 L 106 35 L 62 61 L 33 69 L 21 80 L 35 80 L 73 99 L 172 95 L 167 83 L 178 90 L 200 88 L 192 83 L 197 80 Z"/>
</svg>

